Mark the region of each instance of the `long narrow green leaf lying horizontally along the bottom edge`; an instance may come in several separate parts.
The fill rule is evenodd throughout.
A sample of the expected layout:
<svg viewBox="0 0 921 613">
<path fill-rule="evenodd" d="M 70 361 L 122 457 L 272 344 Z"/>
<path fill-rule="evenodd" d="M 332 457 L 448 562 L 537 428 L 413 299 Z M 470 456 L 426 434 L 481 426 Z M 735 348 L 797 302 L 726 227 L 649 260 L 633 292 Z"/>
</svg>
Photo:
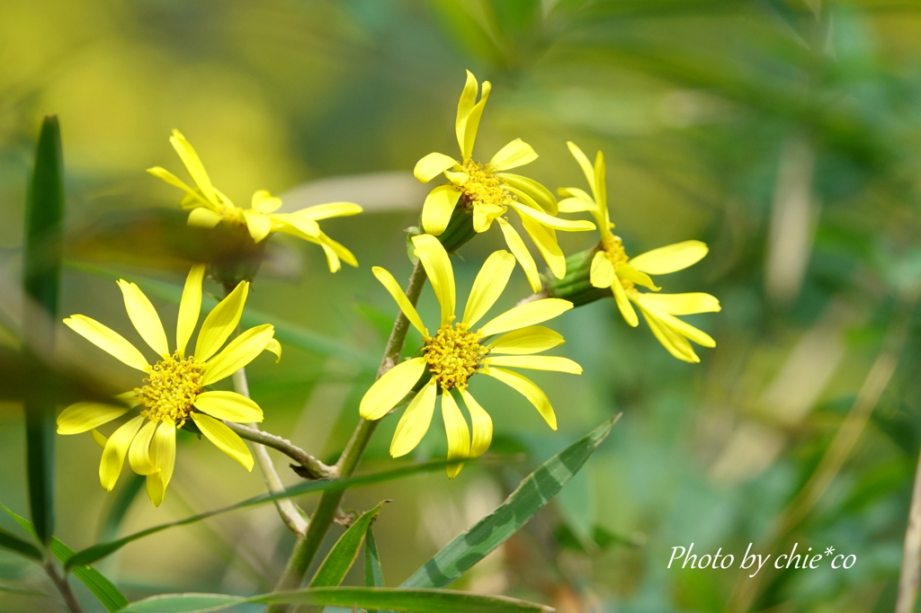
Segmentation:
<svg viewBox="0 0 921 613">
<path fill-rule="evenodd" d="M 389 608 L 414 613 L 552 613 L 551 607 L 507 598 L 451 590 L 404 590 L 387 587 L 308 587 L 251 598 L 223 594 L 153 596 L 123 613 L 207 613 L 246 603 L 286 603 L 314 607 Z"/>
</svg>

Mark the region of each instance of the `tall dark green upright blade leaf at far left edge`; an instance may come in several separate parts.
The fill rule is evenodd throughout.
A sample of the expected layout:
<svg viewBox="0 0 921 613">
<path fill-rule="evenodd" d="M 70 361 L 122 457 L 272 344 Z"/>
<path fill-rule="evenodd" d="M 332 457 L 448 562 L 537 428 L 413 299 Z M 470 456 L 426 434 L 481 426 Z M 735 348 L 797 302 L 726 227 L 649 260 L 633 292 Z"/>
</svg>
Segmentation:
<svg viewBox="0 0 921 613">
<path fill-rule="evenodd" d="M 54 352 L 58 284 L 61 278 L 61 226 L 64 215 L 64 156 L 57 117 L 41 123 L 35 150 L 35 168 L 26 197 L 26 243 L 23 250 L 23 287 L 33 304 L 23 309 L 23 336 L 29 353 Z M 32 383 L 47 387 L 43 373 Z M 54 530 L 54 405 L 27 399 L 26 457 L 29 508 L 35 532 L 46 545 Z"/>
</svg>

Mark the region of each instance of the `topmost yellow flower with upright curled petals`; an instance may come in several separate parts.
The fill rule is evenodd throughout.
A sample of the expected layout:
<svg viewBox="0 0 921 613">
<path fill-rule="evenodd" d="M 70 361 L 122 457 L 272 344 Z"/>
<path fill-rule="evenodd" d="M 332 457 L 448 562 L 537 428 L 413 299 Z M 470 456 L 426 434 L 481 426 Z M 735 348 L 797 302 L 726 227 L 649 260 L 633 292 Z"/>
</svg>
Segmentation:
<svg viewBox="0 0 921 613">
<path fill-rule="evenodd" d="M 461 206 L 472 207 L 473 229 L 485 232 L 494 221 L 498 223 L 508 249 L 519 260 L 536 294 L 541 290 L 537 265 L 518 231 L 503 216 L 507 210 L 512 209 L 519 215 L 525 232 L 541 252 L 550 271 L 560 279 L 565 275 L 566 263 L 563 251 L 556 244 L 555 230 L 592 230 L 595 226 L 587 221 L 556 217 L 553 193 L 534 179 L 505 172 L 537 159 L 534 149 L 520 138 L 499 149 L 485 164 L 472 159 L 473 142 L 491 87 L 489 81 L 483 82 L 482 96 L 477 102 L 479 87 L 476 77 L 467 71 L 467 84 L 461 93 L 455 122 L 458 144 L 461 145 L 461 161 L 445 154 L 431 153 L 415 165 L 415 178 L 423 183 L 435 179 L 441 173 L 449 180 L 449 183 L 437 186 L 426 196 L 422 208 L 422 226 L 427 234 L 438 236 L 448 227 L 451 214 L 459 201 Z"/>
</svg>

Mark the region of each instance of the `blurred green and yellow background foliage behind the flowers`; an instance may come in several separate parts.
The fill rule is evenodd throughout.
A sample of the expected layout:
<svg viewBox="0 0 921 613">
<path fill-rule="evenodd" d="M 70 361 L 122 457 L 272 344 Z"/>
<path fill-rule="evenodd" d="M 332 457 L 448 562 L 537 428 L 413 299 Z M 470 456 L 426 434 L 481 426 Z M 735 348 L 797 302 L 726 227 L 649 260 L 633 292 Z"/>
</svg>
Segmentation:
<svg viewBox="0 0 921 613">
<path fill-rule="evenodd" d="M 144 172 L 161 165 L 185 177 L 168 143 L 179 128 L 238 204 L 268 189 L 285 211 L 338 200 L 366 207 L 323 226 L 356 252 L 359 269 L 331 275 L 320 249 L 274 237 L 251 293 L 251 307 L 357 356 L 286 345 L 281 364 L 262 357 L 251 368 L 264 427 L 334 460 L 395 314 L 369 267 L 409 272 L 402 229 L 416 223 L 426 193 L 411 170 L 431 151 L 456 150 L 465 68 L 494 85 L 474 156 L 520 137 L 541 156 L 527 174 L 554 189 L 585 187 L 566 140 L 603 149 L 628 253 L 705 240 L 709 256 L 665 288 L 717 295 L 723 311 L 690 318 L 717 340 L 699 351 L 701 364 L 671 358 L 645 324 L 628 328 L 612 300 L 559 318 L 560 353 L 585 374 L 535 376 L 554 401 L 557 433 L 517 395 L 474 380 L 495 419 L 494 451 L 527 459 L 350 492 L 350 508 L 394 500 L 375 530 L 387 584 L 543 458 L 624 411 L 558 500 L 456 587 L 562 613 L 891 611 L 921 445 L 916 2 L 0 0 L 0 342 L 15 342 L 22 308 L 11 288 L 41 116 L 59 114 L 64 135 L 75 264 L 64 272 L 62 313 L 132 340 L 121 295 L 99 269 L 181 283 L 177 193 Z M 561 235 L 567 253 L 597 237 Z M 461 250 L 461 295 L 502 247 L 494 230 Z M 499 306 L 527 294 L 516 272 Z M 176 307 L 156 304 L 169 330 Z M 434 312 L 428 290 L 422 304 Z M 69 330 L 59 338 L 63 355 L 136 385 Z M 0 408 L 0 501 L 26 513 L 21 411 Z M 376 434 L 364 468 L 392 466 L 395 422 Z M 836 439 L 845 423 L 855 436 Z M 443 436 L 436 423 L 417 457 L 440 457 Z M 76 549 L 111 537 L 105 524 L 129 471 L 106 494 L 89 435 L 57 443 L 58 536 Z M 142 493 L 119 534 L 262 492 L 258 472 L 213 445 L 180 443 L 167 501 L 155 509 Z M 274 584 L 291 542 L 264 506 L 139 540 L 99 568 L 133 599 L 252 594 Z M 796 542 L 832 546 L 857 563 L 764 571 L 758 581 L 738 570 L 667 570 L 671 548 L 692 542 L 737 561 L 750 542 L 775 555 Z M 0 553 L 0 585 L 45 581 Z M 80 595 L 87 610 L 102 610 Z M 0 609 L 58 610 L 2 591 Z"/>
</svg>

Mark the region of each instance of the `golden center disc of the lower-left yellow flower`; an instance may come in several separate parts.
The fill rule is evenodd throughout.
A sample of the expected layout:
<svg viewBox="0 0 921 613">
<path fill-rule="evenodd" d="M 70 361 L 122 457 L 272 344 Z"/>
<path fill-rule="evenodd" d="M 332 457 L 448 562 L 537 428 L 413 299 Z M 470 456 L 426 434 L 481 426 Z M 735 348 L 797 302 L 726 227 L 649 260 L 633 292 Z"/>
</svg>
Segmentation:
<svg viewBox="0 0 921 613">
<path fill-rule="evenodd" d="M 146 407 L 141 411 L 153 422 L 172 421 L 177 427 L 192 412 L 192 403 L 202 392 L 204 364 L 195 362 L 194 356 L 182 358 L 179 352 L 160 360 L 150 368 L 144 379 L 146 385 L 134 393 Z"/>
</svg>

